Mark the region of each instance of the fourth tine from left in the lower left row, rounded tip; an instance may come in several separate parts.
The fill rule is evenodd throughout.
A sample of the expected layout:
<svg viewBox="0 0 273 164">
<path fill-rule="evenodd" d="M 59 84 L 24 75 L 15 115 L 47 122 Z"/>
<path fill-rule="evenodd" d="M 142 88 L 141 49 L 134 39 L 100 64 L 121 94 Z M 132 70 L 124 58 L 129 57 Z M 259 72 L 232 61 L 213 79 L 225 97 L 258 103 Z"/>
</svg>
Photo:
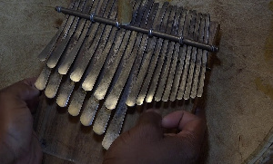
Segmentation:
<svg viewBox="0 0 273 164">
<path fill-rule="evenodd" d="M 110 7 L 111 7 L 111 9 L 110 9 Z M 110 0 L 108 2 L 107 6 L 106 6 L 106 11 L 110 11 L 110 15 L 108 15 L 108 16 L 111 19 L 116 18 L 117 8 L 116 8 L 115 0 Z M 105 26 L 106 27 L 105 27 L 103 35 L 101 35 L 99 33 L 101 35 L 99 37 L 103 38 L 102 42 L 104 42 L 104 43 L 100 43 L 99 44 L 100 47 L 98 47 L 98 50 L 104 48 L 104 46 L 106 44 L 106 40 L 107 40 L 108 34 L 110 33 L 110 31 L 112 29 L 112 26 L 109 26 L 109 25 L 105 25 Z M 96 42 L 96 41 L 94 41 L 94 42 Z M 83 81 L 83 80 L 84 79 L 82 79 L 81 81 Z M 82 82 L 80 82 L 80 83 L 82 83 Z M 73 97 L 71 99 L 71 103 L 70 103 L 70 105 L 68 107 L 69 114 L 71 114 L 72 116 L 77 116 L 80 113 L 80 111 L 81 111 L 81 108 L 82 108 L 82 105 L 83 105 L 83 103 L 85 101 L 85 98 L 86 98 L 86 91 L 84 91 L 81 86 L 78 87 L 76 89 L 76 91 L 74 91 Z"/>
</svg>

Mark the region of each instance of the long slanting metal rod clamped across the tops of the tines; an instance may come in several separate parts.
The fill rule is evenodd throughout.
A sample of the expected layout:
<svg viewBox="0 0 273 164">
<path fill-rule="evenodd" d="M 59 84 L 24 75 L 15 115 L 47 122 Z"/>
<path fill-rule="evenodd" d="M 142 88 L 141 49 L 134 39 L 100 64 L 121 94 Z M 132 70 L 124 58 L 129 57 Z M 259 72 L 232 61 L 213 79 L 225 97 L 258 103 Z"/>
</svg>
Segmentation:
<svg viewBox="0 0 273 164">
<path fill-rule="evenodd" d="M 207 50 L 208 52 L 218 52 L 218 47 L 215 45 L 210 45 L 207 43 L 199 43 L 199 42 L 193 41 L 191 39 L 184 38 L 182 36 L 179 37 L 176 35 L 164 34 L 164 33 L 154 31 L 153 29 L 145 29 L 145 28 L 141 28 L 138 26 L 130 25 L 130 24 L 129 25 L 121 25 L 116 20 L 107 19 L 105 17 L 101 17 L 101 16 L 98 16 L 95 14 L 84 14 L 84 13 L 78 12 L 76 10 L 63 8 L 61 6 L 56 6 L 56 11 L 59 13 L 63 13 L 63 14 L 71 14 L 71 15 L 75 15 L 77 17 L 85 18 L 85 19 L 88 19 L 92 22 L 113 25 L 113 26 L 116 26 L 117 28 L 124 28 L 126 30 L 136 31 L 136 32 L 142 33 L 142 34 L 148 34 L 149 36 L 156 36 L 158 38 L 167 39 L 169 41 L 173 41 L 176 43 L 190 45 L 190 46 L 197 47 L 197 48 L 200 48 L 203 50 Z"/>
</svg>

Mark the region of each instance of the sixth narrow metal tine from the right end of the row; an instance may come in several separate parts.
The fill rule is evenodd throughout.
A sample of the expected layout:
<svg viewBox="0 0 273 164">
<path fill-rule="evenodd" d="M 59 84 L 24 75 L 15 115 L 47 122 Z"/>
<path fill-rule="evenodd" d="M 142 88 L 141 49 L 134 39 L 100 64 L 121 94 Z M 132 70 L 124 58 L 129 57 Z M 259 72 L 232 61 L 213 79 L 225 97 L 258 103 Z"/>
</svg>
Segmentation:
<svg viewBox="0 0 273 164">
<path fill-rule="evenodd" d="M 177 28 L 177 33 L 176 33 L 176 30 L 173 30 L 172 34 L 177 34 L 178 36 L 183 36 L 183 26 L 185 23 L 185 14 L 183 13 L 183 7 L 179 7 L 178 10 L 179 10 L 180 15 L 179 15 L 179 17 L 177 17 L 177 20 L 175 20 L 177 22 L 174 23 L 174 27 L 173 27 L 173 28 Z M 171 93 L 171 89 L 172 89 L 172 86 L 174 83 L 174 77 L 175 77 L 175 73 L 176 73 L 176 69 L 177 69 L 177 61 L 178 61 L 179 51 L 180 51 L 180 44 L 176 43 L 175 44 L 175 52 L 172 57 L 171 69 L 170 69 L 168 77 L 167 77 L 166 89 L 165 89 L 164 95 L 162 97 L 163 101 L 168 101 L 170 93 Z"/>
</svg>

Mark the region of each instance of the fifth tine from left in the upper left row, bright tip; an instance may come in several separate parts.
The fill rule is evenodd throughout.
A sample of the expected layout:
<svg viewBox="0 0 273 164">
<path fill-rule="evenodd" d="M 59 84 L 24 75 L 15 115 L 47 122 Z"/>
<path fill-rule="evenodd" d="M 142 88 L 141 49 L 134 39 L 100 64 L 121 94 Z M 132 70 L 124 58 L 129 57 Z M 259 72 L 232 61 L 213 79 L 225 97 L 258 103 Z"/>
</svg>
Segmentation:
<svg viewBox="0 0 273 164">
<path fill-rule="evenodd" d="M 135 2 L 134 10 L 137 11 L 138 7 L 140 5 L 140 1 L 137 3 Z M 134 22 L 133 18 L 133 21 Z M 123 40 L 123 37 L 125 35 L 125 30 L 117 30 L 115 27 L 112 28 L 111 34 L 109 36 L 109 39 L 106 43 L 106 48 L 104 49 L 103 53 L 96 54 L 96 57 L 94 58 L 94 65 L 89 65 L 89 67 L 92 67 L 92 69 L 88 68 L 90 72 L 88 72 L 88 75 L 85 79 L 85 82 L 83 82 L 83 89 L 85 91 L 92 91 L 94 89 L 94 85 L 97 81 L 97 77 L 100 72 L 103 72 L 102 68 L 104 65 L 108 63 L 109 60 L 107 59 L 107 56 L 114 56 L 114 53 L 118 52 L 118 49 L 120 47 L 120 44 Z M 99 53 L 97 51 L 96 53 Z M 111 58 L 111 57 L 110 57 Z M 110 60 L 111 61 L 111 60 Z"/>
</svg>

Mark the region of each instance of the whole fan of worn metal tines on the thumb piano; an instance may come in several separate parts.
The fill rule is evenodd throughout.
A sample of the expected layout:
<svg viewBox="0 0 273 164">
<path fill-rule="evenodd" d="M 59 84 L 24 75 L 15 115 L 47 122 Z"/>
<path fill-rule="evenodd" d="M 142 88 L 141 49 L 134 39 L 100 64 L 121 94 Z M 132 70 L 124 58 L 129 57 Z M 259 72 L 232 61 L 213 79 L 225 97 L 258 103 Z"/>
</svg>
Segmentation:
<svg viewBox="0 0 273 164">
<path fill-rule="evenodd" d="M 209 14 L 133 0 L 131 19 L 123 24 L 119 5 L 76 0 L 67 8 L 57 6 L 66 17 L 38 56 L 45 67 L 35 82 L 69 117 L 104 134 L 106 150 L 122 130 L 128 108 L 201 97 L 207 59 L 218 50 L 218 24 Z"/>
</svg>

